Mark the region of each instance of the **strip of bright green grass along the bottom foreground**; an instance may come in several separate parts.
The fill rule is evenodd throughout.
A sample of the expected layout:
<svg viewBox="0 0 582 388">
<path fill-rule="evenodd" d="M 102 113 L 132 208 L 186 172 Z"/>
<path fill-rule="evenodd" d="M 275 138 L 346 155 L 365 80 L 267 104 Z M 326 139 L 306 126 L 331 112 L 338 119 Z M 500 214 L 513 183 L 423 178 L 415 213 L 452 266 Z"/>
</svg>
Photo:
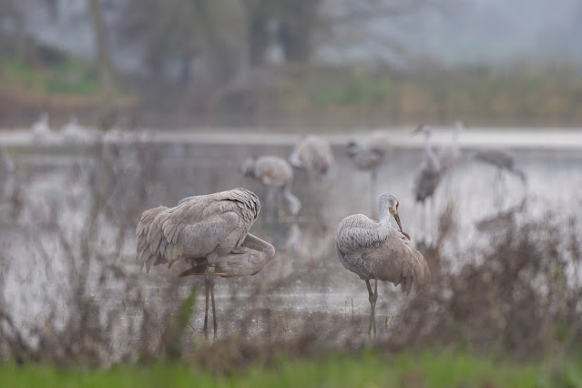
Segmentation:
<svg viewBox="0 0 582 388">
<path fill-rule="evenodd" d="M 390 358 L 373 352 L 325 360 L 278 362 L 244 373 L 215 375 L 196 365 L 157 363 L 109 370 L 0 365 L 5 387 L 582 387 L 582 362 L 519 364 L 448 352 L 406 352 Z M 556 366 L 557 365 L 557 366 Z"/>
</svg>

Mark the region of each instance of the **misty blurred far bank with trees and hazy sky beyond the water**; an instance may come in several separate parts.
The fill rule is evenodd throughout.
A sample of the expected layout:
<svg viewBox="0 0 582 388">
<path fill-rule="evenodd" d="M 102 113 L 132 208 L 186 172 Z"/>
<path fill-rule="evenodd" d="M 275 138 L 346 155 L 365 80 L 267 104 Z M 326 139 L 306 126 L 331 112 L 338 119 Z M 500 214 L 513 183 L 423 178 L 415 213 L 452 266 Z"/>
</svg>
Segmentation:
<svg viewBox="0 0 582 388">
<path fill-rule="evenodd" d="M 0 125 L 577 125 L 576 0 L 1 0 Z"/>
</svg>

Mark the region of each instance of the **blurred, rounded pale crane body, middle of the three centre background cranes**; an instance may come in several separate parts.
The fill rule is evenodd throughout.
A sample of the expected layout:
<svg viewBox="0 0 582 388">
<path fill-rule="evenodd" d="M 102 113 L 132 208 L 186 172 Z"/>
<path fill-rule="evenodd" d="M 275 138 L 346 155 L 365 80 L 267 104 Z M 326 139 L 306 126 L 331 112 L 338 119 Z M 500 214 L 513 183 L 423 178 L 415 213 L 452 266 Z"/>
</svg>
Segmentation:
<svg viewBox="0 0 582 388">
<path fill-rule="evenodd" d="M 335 166 L 330 143 L 319 136 L 301 137 L 291 156 L 291 166 L 307 170 L 311 177 L 322 179 Z"/>
</svg>

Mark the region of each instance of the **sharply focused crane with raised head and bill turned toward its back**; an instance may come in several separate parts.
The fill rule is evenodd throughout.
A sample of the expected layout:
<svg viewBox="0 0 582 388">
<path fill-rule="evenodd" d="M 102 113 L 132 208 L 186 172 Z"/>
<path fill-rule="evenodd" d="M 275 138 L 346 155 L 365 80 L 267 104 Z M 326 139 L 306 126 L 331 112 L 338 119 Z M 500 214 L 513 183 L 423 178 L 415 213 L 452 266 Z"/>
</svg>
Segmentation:
<svg viewBox="0 0 582 388">
<path fill-rule="evenodd" d="M 414 250 L 410 236 L 403 232 L 398 216 L 398 199 L 385 193 L 378 199 L 380 222 L 363 214 L 355 214 L 340 222 L 335 232 L 335 248 L 346 270 L 360 276 L 368 288 L 370 325 L 368 333 L 376 333 L 375 307 L 378 300 L 378 281 L 400 284 L 408 294 L 414 287 L 422 289 L 430 282 L 430 271 L 423 255 Z M 399 230 L 392 227 L 391 216 Z M 370 281 L 374 280 L 373 291 Z"/>
</svg>

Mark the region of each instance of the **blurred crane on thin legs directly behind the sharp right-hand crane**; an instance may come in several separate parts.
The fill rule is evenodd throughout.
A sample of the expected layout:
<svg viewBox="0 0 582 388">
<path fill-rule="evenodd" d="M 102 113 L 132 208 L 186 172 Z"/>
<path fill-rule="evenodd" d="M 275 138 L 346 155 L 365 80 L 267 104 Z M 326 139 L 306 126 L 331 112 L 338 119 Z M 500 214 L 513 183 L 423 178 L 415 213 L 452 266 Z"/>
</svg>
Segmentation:
<svg viewBox="0 0 582 388">
<path fill-rule="evenodd" d="M 350 140 L 347 148 L 355 168 L 370 171 L 370 204 L 373 208 L 378 170 L 392 149 L 388 135 L 383 131 L 374 131 L 360 140 Z"/>
</svg>

